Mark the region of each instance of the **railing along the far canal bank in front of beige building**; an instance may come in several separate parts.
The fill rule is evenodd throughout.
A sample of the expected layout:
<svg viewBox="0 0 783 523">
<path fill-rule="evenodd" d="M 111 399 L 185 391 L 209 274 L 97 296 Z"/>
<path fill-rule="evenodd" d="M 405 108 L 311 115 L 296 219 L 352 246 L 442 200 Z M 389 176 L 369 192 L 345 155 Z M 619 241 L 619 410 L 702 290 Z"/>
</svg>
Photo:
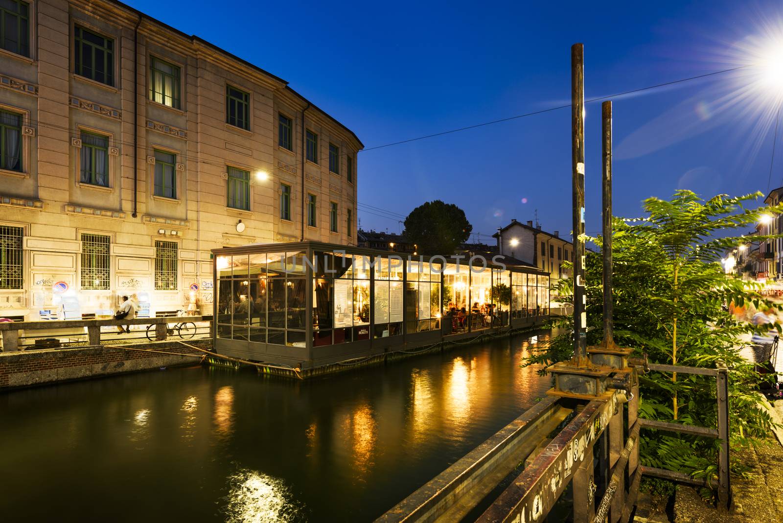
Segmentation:
<svg viewBox="0 0 783 523">
<path fill-rule="evenodd" d="M 168 316 L 0 323 L 2 352 L 207 338 L 211 337 L 211 319 L 212 316 Z M 188 325 L 183 326 L 185 323 Z M 120 333 L 120 326 L 130 327 L 130 332 Z"/>
</svg>

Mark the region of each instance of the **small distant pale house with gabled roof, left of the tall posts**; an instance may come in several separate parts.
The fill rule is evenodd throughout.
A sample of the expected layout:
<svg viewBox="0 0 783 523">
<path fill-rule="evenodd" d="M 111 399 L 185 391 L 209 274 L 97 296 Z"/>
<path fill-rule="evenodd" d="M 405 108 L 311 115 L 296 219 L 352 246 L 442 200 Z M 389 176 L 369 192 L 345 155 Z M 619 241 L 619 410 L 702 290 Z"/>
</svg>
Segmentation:
<svg viewBox="0 0 783 523">
<path fill-rule="evenodd" d="M 558 231 L 547 233 L 540 225 L 534 227 L 532 221 L 525 224 L 512 219 L 493 237 L 500 254 L 543 269 L 555 280 L 571 276 L 571 272 L 563 268 L 563 262 L 573 262 L 573 244 L 561 238 Z"/>
</svg>

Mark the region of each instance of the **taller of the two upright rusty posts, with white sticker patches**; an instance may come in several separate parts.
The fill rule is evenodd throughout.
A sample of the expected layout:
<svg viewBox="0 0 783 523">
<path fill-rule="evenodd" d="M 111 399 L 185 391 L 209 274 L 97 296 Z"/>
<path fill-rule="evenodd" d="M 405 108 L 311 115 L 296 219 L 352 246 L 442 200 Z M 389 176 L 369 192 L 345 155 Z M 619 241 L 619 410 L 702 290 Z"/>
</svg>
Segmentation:
<svg viewBox="0 0 783 523">
<path fill-rule="evenodd" d="M 571 164 L 574 240 L 574 359 L 587 366 L 585 312 L 585 124 L 584 45 L 571 46 Z"/>
</svg>

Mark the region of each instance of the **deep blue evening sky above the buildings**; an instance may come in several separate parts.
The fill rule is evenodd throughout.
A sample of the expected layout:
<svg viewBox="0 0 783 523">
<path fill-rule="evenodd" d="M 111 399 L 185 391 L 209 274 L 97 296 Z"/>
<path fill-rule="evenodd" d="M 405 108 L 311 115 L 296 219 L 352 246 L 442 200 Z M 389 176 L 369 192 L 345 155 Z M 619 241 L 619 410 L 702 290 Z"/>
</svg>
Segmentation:
<svg viewBox="0 0 783 523">
<path fill-rule="evenodd" d="M 569 103 L 577 41 L 587 99 L 756 63 L 773 38 L 783 44 L 781 2 L 129 3 L 289 81 L 367 148 Z M 678 188 L 766 193 L 783 83 L 761 84 L 745 69 L 615 99 L 615 215 Z M 588 233 L 601 226 L 600 114 L 587 106 Z M 571 230 L 568 109 L 366 151 L 358 164 L 364 229 L 401 225 L 363 204 L 406 215 L 437 198 L 464 208 L 482 240 L 536 209 L 544 229 Z"/>
</svg>

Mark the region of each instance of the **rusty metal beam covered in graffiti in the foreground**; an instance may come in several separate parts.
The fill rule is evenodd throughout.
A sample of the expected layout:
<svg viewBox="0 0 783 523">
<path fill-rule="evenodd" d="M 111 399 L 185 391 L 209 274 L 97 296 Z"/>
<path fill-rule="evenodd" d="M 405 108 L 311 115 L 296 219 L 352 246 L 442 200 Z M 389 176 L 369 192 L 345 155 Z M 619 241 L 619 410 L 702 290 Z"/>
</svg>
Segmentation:
<svg viewBox="0 0 783 523">
<path fill-rule="evenodd" d="M 546 516 L 617 406 L 616 394 L 606 402 L 585 406 L 478 521 L 530 523 Z"/>
</svg>

